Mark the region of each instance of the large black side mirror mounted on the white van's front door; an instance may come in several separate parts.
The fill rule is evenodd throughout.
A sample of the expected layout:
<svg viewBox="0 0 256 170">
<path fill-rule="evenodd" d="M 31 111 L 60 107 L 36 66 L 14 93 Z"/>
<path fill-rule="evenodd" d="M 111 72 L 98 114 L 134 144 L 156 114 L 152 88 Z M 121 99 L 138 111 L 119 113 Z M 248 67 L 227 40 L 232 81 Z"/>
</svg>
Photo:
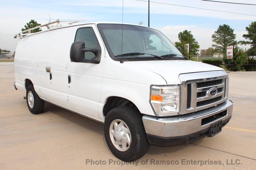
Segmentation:
<svg viewBox="0 0 256 170">
<path fill-rule="evenodd" d="M 95 57 L 91 60 L 85 59 L 85 52 L 90 51 L 94 53 Z M 85 43 L 82 41 L 75 41 L 70 48 L 70 60 L 76 63 L 100 63 L 100 50 L 89 49 L 85 47 Z"/>
</svg>

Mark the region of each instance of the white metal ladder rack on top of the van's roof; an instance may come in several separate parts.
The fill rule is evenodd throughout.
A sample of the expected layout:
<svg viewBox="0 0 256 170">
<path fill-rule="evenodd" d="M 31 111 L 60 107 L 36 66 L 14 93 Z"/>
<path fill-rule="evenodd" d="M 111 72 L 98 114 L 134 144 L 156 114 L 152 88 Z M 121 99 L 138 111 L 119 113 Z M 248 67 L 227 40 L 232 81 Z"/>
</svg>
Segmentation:
<svg viewBox="0 0 256 170">
<path fill-rule="evenodd" d="M 53 27 L 63 26 L 63 25 L 60 24 L 60 23 L 66 23 L 66 25 L 71 25 L 71 24 L 73 24 L 73 23 L 77 23 L 77 22 L 81 22 L 81 21 L 84 21 L 84 20 L 73 20 L 73 21 L 60 21 L 60 20 L 56 20 L 56 21 L 53 21 L 53 22 L 50 22 L 50 21 L 49 21 L 49 23 L 46 23 L 46 24 L 44 24 L 44 25 L 39 25 L 39 26 L 37 26 L 37 27 L 30 28 L 30 29 L 27 29 L 27 30 L 22 31 L 22 32 L 20 32 L 20 33 L 17 33 L 17 34 L 14 35 L 14 38 L 17 38 L 17 37 L 22 38 L 22 37 L 25 37 L 25 36 L 27 36 L 27 35 L 33 35 L 33 34 L 35 34 L 35 33 L 31 33 L 31 31 L 34 30 L 34 29 L 46 27 L 46 28 L 48 29 L 48 31 L 49 31 L 49 30 L 50 30 L 51 28 L 53 28 Z M 57 23 L 57 24 L 56 24 L 56 25 L 52 25 L 52 24 L 54 24 L 54 23 Z M 26 33 L 26 32 L 28 32 L 28 33 Z M 39 32 L 36 32 L 36 33 L 39 33 Z"/>
</svg>

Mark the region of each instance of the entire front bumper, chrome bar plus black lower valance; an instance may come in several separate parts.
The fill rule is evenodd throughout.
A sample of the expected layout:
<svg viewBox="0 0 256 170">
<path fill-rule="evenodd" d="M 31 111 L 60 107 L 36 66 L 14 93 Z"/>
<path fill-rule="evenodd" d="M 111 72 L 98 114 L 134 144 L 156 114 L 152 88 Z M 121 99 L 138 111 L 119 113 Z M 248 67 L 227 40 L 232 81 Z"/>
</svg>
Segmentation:
<svg viewBox="0 0 256 170">
<path fill-rule="evenodd" d="M 231 118 L 233 103 L 230 100 L 194 113 L 175 117 L 142 117 L 148 140 L 154 145 L 184 145 L 208 135 L 210 125 L 222 120 L 222 126 Z"/>
</svg>

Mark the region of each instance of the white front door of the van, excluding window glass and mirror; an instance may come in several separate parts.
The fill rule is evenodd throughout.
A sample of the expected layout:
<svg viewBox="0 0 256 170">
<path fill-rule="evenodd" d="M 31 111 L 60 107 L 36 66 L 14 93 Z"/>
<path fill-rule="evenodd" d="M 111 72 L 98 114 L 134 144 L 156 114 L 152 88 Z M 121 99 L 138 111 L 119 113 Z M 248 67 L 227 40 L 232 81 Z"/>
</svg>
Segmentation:
<svg viewBox="0 0 256 170">
<path fill-rule="evenodd" d="M 77 27 L 74 41 L 84 42 L 86 48 L 100 49 L 101 59 L 99 64 L 69 61 L 67 83 L 70 109 L 87 117 L 100 120 L 97 109 L 102 85 L 104 45 L 94 24 Z M 90 60 L 94 57 L 94 53 L 85 52 L 85 59 Z"/>
</svg>

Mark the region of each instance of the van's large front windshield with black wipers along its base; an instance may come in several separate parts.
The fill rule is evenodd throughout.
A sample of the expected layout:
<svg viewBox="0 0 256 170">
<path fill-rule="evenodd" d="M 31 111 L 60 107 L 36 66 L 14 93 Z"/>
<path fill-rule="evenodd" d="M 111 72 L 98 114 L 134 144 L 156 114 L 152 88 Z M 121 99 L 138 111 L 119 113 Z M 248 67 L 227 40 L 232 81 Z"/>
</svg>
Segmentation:
<svg viewBox="0 0 256 170">
<path fill-rule="evenodd" d="M 98 24 L 110 57 L 129 59 L 186 59 L 173 43 L 156 29 L 122 24 Z"/>
</svg>

